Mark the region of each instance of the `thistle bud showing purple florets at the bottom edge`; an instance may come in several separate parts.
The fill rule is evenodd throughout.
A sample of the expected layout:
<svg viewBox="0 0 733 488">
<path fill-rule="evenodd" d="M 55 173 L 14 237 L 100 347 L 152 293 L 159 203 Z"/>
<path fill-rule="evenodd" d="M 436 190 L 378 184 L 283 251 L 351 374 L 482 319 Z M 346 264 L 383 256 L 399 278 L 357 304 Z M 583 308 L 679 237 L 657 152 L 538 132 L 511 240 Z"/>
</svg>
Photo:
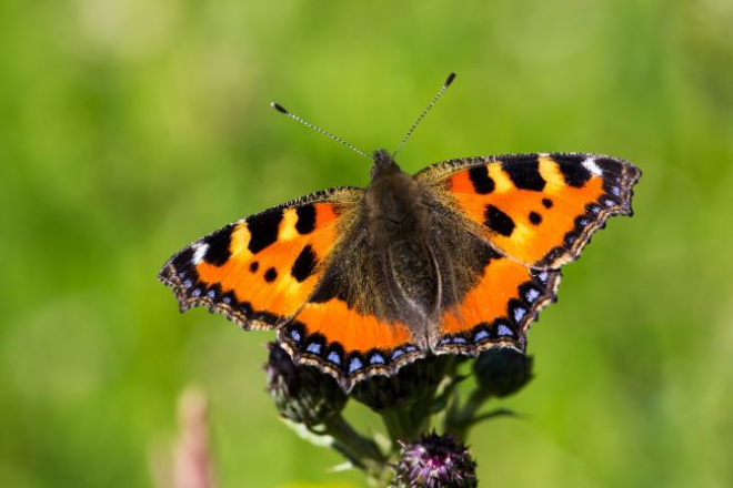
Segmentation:
<svg viewBox="0 0 733 488">
<path fill-rule="evenodd" d="M 394 466 L 395 488 L 475 488 L 476 464 L 469 449 L 450 436 L 433 433 L 416 441 L 400 443 Z"/>
</svg>

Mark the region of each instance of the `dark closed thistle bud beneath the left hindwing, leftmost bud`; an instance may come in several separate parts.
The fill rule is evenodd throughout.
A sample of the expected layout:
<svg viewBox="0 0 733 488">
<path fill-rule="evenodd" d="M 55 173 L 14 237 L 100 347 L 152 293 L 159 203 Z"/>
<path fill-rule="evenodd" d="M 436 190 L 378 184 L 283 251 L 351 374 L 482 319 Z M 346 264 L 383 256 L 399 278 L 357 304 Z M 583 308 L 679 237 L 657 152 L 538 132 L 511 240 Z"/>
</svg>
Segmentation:
<svg viewBox="0 0 733 488">
<path fill-rule="evenodd" d="M 294 364 L 277 342 L 268 347 L 270 357 L 264 365 L 268 390 L 280 415 L 311 427 L 343 409 L 347 395 L 331 376 Z"/>
</svg>

